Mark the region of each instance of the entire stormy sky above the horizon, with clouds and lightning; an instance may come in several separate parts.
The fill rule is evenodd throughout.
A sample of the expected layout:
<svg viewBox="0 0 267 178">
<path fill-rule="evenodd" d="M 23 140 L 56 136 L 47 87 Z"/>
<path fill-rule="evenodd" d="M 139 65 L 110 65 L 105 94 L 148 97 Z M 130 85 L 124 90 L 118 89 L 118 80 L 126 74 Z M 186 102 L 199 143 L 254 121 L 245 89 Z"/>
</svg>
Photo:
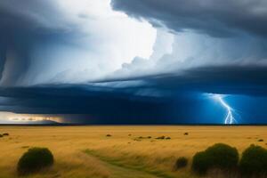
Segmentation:
<svg viewBox="0 0 267 178">
<path fill-rule="evenodd" d="M 1 0 L 0 14 L 2 124 L 267 124 L 265 0 Z"/>
</svg>

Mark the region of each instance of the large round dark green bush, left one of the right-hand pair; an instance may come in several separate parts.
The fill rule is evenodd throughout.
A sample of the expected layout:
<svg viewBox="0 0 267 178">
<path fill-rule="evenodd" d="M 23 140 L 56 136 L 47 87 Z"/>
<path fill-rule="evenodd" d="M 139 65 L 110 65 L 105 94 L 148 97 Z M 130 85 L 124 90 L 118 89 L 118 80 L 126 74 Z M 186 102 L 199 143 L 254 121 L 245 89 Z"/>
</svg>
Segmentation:
<svg viewBox="0 0 267 178">
<path fill-rule="evenodd" d="M 227 144 L 216 143 L 193 157 L 192 170 L 198 174 L 206 174 L 210 169 L 220 169 L 225 172 L 238 166 L 239 152 Z"/>
</svg>

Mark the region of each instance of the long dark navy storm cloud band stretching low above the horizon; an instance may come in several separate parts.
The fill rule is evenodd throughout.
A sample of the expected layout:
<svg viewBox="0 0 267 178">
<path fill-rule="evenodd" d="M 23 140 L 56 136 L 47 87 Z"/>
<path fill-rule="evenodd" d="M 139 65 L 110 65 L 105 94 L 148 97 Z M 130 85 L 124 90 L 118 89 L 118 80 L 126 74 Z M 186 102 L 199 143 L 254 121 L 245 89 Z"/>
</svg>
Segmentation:
<svg viewBox="0 0 267 178">
<path fill-rule="evenodd" d="M 196 114 L 205 110 L 206 103 L 211 101 L 203 98 L 202 93 L 265 97 L 265 71 L 264 67 L 259 66 L 205 67 L 87 85 L 1 88 L 0 110 L 60 115 L 64 116 L 65 121 L 90 124 L 213 122 L 206 118 L 210 114 Z M 124 85 L 130 81 L 142 82 L 136 83 L 139 85 Z M 114 83 L 120 84 L 117 85 L 120 87 Z"/>
</svg>

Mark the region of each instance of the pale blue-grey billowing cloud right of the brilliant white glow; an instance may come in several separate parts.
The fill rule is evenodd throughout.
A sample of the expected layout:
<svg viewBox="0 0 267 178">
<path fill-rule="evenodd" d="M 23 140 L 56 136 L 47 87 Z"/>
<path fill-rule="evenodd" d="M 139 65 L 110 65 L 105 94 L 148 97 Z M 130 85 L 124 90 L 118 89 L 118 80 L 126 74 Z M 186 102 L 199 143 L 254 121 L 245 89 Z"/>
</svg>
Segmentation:
<svg viewBox="0 0 267 178">
<path fill-rule="evenodd" d="M 107 79 L 144 77 L 165 73 L 183 72 L 206 66 L 265 65 L 266 53 L 263 39 L 240 35 L 217 38 L 192 31 L 169 33 L 158 28 L 154 53 L 150 58 L 136 56 L 126 62 Z"/>
</svg>

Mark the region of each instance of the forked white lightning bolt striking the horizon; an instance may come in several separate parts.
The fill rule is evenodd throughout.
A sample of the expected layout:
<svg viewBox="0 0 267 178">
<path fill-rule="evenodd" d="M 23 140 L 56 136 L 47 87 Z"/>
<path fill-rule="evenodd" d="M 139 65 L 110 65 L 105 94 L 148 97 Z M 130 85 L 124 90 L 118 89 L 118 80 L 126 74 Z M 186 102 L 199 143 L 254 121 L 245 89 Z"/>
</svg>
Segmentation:
<svg viewBox="0 0 267 178">
<path fill-rule="evenodd" d="M 213 97 L 216 101 L 219 101 L 222 104 L 223 108 L 225 108 L 227 110 L 227 115 L 224 118 L 224 124 L 225 125 L 236 124 L 237 121 L 234 117 L 234 114 L 236 114 L 235 110 L 232 109 L 231 106 L 229 106 L 228 103 L 223 100 L 223 95 L 222 94 L 214 94 Z"/>
</svg>

